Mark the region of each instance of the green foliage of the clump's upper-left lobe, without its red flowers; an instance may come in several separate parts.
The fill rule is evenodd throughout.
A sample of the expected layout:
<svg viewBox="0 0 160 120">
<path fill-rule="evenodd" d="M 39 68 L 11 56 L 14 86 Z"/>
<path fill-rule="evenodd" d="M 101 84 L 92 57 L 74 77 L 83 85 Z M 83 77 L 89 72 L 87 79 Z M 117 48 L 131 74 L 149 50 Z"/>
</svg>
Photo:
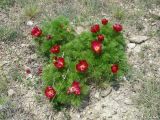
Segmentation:
<svg viewBox="0 0 160 120">
<path fill-rule="evenodd" d="M 36 38 L 35 43 L 43 55 L 49 56 L 50 48 L 54 44 L 63 45 L 66 42 L 72 41 L 75 37 L 72 26 L 64 17 L 59 17 L 54 21 L 44 22 L 42 37 Z M 47 40 L 47 35 L 52 35 L 51 40 Z"/>
</svg>

